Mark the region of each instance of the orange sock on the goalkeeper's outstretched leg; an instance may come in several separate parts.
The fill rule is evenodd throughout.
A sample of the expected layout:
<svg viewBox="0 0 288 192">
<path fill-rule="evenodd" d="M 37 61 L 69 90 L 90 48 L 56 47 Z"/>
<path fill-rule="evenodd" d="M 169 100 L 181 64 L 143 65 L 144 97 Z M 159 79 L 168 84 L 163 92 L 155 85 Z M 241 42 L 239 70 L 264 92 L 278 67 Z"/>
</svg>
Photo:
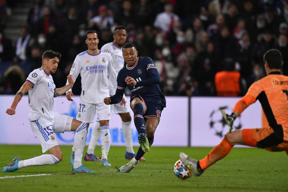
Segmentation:
<svg viewBox="0 0 288 192">
<path fill-rule="evenodd" d="M 215 146 L 205 158 L 199 160 L 201 169 L 205 170 L 220 159 L 224 158 L 231 151 L 232 147 L 233 144 L 225 136 L 221 143 Z"/>
</svg>

